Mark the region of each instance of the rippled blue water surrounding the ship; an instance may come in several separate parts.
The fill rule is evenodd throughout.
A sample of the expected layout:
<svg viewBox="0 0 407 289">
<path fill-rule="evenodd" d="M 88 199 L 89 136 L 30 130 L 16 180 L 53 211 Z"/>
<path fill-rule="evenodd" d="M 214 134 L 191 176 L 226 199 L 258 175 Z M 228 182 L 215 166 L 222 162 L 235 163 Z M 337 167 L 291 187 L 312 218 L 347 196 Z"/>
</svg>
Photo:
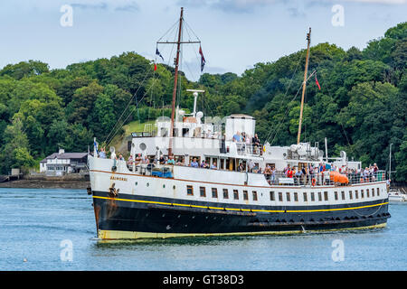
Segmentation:
<svg viewBox="0 0 407 289">
<path fill-rule="evenodd" d="M 390 213 L 378 229 L 104 243 L 86 191 L 0 188 L 0 271 L 405 270 L 407 203 Z"/>
</svg>

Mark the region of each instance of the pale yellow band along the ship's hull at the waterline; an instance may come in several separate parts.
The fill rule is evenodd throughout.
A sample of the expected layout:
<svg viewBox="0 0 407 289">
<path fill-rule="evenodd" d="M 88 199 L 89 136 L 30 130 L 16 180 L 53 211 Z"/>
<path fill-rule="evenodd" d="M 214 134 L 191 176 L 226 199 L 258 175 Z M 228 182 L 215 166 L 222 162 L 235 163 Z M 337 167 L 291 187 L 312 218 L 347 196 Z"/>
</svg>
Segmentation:
<svg viewBox="0 0 407 289">
<path fill-rule="evenodd" d="M 321 232 L 321 231 L 339 231 L 349 229 L 365 229 L 365 228 L 384 228 L 386 223 L 356 227 L 356 228 L 331 228 L 307 230 L 306 232 Z M 251 235 L 284 235 L 284 234 L 300 234 L 302 230 L 291 231 L 259 231 L 259 232 L 235 232 L 235 233 L 150 233 L 150 232 L 131 232 L 118 230 L 103 230 L 99 229 L 98 238 L 102 240 L 116 239 L 137 239 L 137 238 L 183 238 L 183 237 L 216 237 L 216 236 L 251 236 Z"/>
</svg>

